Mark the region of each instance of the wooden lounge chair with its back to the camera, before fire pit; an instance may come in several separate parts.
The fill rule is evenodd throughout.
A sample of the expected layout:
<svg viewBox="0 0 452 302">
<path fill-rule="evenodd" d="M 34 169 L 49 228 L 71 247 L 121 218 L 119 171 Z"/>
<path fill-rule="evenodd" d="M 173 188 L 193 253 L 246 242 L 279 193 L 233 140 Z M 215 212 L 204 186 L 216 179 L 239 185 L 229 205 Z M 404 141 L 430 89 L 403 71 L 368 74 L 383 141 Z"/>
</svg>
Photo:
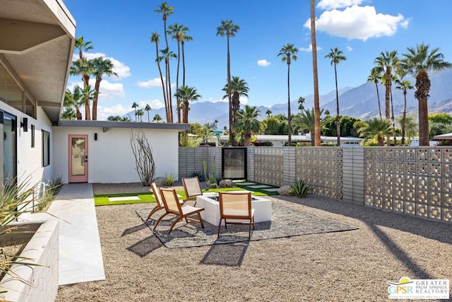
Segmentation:
<svg viewBox="0 0 452 302">
<path fill-rule="evenodd" d="M 254 209 L 251 209 L 251 192 L 219 192 L 220 223 L 218 236 L 220 237 L 221 221 L 228 224 L 249 224 L 248 238 L 251 238 L 251 225 L 254 229 Z M 244 221 L 245 220 L 245 221 Z"/>
</svg>

